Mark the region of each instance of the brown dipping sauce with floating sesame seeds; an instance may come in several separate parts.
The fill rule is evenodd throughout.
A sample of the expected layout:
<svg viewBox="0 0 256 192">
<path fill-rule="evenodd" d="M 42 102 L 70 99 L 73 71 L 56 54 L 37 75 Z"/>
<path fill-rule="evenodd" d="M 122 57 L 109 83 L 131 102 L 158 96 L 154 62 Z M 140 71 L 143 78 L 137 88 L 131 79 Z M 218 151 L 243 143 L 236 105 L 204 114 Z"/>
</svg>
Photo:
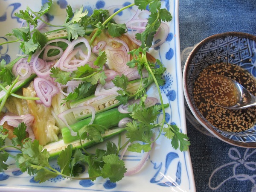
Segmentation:
<svg viewBox="0 0 256 192">
<path fill-rule="evenodd" d="M 232 64 L 213 64 L 205 68 L 195 81 L 193 94 L 198 110 L 222 131 L 240 132 L 251 128 L 256 122 L 256 107 L 228 110 L 215 104 L 230 106 L 240 99 L 234 84 L 218 75 L 238 81 L 256 96 L 256 79 L 247 70 Z"/>
</svg>

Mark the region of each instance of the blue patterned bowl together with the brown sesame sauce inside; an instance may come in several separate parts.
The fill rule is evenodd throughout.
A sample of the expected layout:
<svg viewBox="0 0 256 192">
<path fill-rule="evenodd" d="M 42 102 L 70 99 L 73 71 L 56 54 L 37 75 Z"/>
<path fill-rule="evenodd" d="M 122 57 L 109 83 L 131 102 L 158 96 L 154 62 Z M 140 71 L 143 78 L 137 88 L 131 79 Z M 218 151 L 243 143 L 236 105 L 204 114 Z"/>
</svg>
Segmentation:
<svg viewBox="0 0 256 192">
<path fill-rule="evenodd" d="M 212 35 L 190 52 L 183 90 L 190 111 L 212 135 L 240 147 L 256 147 L 256 107 L 228 110 L 237 93 L 227 76 L 256 95 L 256 36 L 242 32 Z M 229 103 L 229 104 L 228 104 Z"/>
</svg>

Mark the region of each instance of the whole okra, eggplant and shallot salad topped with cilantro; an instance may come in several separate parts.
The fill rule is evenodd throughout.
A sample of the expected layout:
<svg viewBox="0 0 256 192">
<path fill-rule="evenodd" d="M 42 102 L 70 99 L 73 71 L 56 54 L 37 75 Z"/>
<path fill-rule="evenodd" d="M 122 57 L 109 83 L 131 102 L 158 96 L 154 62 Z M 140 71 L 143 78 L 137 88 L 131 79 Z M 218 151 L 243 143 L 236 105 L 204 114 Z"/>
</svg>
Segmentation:
<svg viewBox="0 0 256 192">
<path fill-rule="evenodd" d="M 0 44 L 18 43 L 21 50 L 15 60 L 0 61 L 0 171 L 20 169 L 40 183 L 58 176 L 117 182 L 140 171 L 162 134 L 173 148 L 188 150 L 186 134 L 166 121 L 160 90 L 166 68 L 148 52 L 169 32 L 172 15 L 161 1 L 135 0 L 113 14 L 111 7 L 89 14 L 67 6 L 61 24 L 48 21 L 51 7 L 49 0 L 39 11 L 28 6 L 15 13 L 22 23 L 7 34 L 13 41 Z M 131 8 L 130 20 L 115 21 Z M 118 142 L 97 148 L 114 136 Z M 127 151 L 144 151 L 129 169 L 122 160 Z M 88 175 L 80 177 L 84 166 Z"/>
</svg>

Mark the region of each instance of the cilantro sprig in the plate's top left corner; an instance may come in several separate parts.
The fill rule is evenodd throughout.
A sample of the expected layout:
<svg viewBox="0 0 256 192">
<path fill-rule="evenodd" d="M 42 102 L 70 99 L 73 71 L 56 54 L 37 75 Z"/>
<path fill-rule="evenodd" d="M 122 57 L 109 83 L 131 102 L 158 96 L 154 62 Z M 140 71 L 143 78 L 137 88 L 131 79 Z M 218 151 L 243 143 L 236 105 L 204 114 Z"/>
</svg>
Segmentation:
<svg viewBox="0 0 256 192">
<path fill-rule="evenodd" d="M 20 43 L 20 49 L 24 54 L 31 55 L 39 48 L 42 49 L 48 41 L 47 35 L 41 33 L 36 27 L 38 26 L 38 20 L 41 20 L 47 26 L 64 28 L 67 31 L 67 39 L 76 39 L 79 36 L 85 34 L 84 26 L 81 24 L 81 19 L 88 14 L 88 11 L 83 11 L 83 7 L 73 12 L 71 6 L 67 6 L 67 17 L 65 23 L 61 25 L 53 25 L 43 20 L 42 15 L 46 14 L 52 6 L 52 0 L 45 3 L 41 10 L 38 12 L 33 11 L 27 6 L 26 10 L 20 10 L 15 13 L 16 17 L 19 17 L 26 21 L 27 26 L 12 29 L 12 33 L 8 33 L 7 36 L 15 37 L 14 41 L 6 41 L 3 44 L 9 44 L 14 42 Z"/>
</svg>

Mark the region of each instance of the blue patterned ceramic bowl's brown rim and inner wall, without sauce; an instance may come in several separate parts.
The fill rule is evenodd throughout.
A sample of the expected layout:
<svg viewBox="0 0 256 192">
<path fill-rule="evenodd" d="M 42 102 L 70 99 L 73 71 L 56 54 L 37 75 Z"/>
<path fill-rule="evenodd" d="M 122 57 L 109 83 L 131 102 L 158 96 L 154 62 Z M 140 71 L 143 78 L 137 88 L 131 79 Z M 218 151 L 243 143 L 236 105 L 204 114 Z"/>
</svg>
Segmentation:
<svg viewBox="0 0 256 192">
<path fill-rule="evenodd" d="M 193 89 L 196 79 L 202 70 L 217 63 L 238 65 L 256 77 L 256 36 L 241 32 L 212 35 L 194 47 L 183 70 L 183 90 L 186 102 L 198 122 L 212 135 L 226 143 L 255 148 L 255 124 L 241 132 L 223 131 L 207 121 L 198 109 L 198 105 L 195 104 Z"/>
</svg>

